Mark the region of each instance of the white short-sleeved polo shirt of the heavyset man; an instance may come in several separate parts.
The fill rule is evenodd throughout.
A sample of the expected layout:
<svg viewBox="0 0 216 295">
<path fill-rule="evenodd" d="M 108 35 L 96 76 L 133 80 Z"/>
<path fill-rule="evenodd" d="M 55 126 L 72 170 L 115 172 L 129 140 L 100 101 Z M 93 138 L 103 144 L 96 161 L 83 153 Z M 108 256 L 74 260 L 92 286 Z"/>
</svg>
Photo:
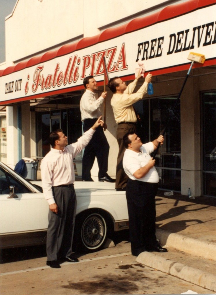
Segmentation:
<svg viewBox="0 0 216 295">
<path fill-rule="evenodd" d="M 123 168 L 125 173 L 132 180 L 139 180 L 150 183 L 158 183 L 159 176 L 155 167 L 152 167 L 149 172 L 142 178 L 137 179 L 133 176 L 139 168 L 144 167 L 151 159 L 151 153 L 154 151 L 152 142 L 145 143 L 140 148 L 140 153 L 126 149 L 123 158 Z"/>
</svg>

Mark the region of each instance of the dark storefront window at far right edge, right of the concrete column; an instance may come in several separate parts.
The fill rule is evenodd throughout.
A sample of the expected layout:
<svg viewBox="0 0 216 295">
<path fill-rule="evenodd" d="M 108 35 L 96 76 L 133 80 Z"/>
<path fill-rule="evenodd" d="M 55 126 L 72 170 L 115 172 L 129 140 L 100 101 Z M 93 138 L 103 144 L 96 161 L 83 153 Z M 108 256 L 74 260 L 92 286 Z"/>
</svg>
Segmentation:
<svg viewBox="0 0 216 295">
<path fill-rule="evenodd" d="M 216 92 L 203 94 L 203 188 L 216 196 Z"/>
</svg>

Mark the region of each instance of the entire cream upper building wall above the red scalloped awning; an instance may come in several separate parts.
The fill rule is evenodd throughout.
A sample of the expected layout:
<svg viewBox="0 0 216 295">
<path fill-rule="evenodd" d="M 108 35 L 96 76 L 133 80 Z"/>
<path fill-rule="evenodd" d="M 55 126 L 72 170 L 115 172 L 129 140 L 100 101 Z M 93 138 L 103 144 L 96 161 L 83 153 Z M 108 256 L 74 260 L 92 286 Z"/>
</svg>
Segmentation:
<svg viewBox="0 0 216 295">
<path fill-rule="evenodd" d="M 6 65 L 182 1 L 155 0 L 152 6 L 150 0 L 18 0 L 5 21 Z"/>
</svg>

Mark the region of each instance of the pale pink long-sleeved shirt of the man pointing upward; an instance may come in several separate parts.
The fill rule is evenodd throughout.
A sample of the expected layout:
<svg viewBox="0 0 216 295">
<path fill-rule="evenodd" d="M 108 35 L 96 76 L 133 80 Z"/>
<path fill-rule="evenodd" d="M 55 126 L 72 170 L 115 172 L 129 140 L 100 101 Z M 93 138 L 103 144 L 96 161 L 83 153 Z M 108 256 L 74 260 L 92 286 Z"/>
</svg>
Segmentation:
<svg viewBox="0 0 216 295">
<path fill-rule="evenodd" d="M 55 203 L 52 186 L 72 184 L 75 181 L 73 158 L 89 143 L 95 130 L 90 128 L 77 142 L 63 151 L 51 148 L 40 164 L 43 194 L 49 205 Z"/>
</svg>

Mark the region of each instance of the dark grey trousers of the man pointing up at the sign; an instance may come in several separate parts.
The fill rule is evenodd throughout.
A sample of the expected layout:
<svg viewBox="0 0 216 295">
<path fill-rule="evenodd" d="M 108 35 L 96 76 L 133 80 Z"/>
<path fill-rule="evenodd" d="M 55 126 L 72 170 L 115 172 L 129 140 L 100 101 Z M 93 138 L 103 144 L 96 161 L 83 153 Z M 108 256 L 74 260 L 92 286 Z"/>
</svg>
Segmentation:
<svg viewBox="0 0 216 295">
<path fill-rule="evenodd" d="M 49 210 L 46 252 L 47 260 L 72 253 L 77 199 L 74 186 L 53 187 L 53 196 L 58 205 L 58 214 Z"/>
</svg>

